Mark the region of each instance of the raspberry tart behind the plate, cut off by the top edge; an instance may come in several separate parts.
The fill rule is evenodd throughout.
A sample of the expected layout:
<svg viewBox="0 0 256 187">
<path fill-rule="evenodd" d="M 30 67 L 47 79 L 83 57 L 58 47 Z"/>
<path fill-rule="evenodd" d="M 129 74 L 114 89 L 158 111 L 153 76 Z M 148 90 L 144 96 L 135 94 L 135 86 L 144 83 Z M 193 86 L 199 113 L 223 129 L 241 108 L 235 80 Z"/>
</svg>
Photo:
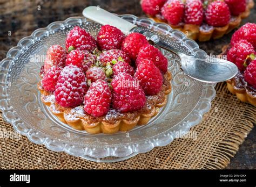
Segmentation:
<svg viewBox="0 0 256 187">
<path fill-rule="evenodd" d="M 253 0 L 142 0 L 146 15 L 167 23 L 188 38 L 218 39 L 238 27 L 250 15 Z"/>
</svg>

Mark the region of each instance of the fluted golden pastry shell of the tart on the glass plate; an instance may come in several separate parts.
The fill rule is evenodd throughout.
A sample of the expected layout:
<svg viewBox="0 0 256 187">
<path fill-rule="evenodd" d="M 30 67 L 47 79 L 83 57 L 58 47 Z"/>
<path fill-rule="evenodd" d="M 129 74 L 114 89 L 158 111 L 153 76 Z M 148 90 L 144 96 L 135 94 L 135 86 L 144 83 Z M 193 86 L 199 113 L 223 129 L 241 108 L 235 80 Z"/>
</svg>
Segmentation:
<svg viewBox="0 0 256 187">
<path fill-rule="evenodd" d="M 53 96 L 52 93 L 45 91 L 41 85 L 41 81 L 38 83 L 37 88 L 41 92 L 41 100 L 42 102 L 50 107 L 51 113 L 55 115 L 60 121 L 69 126 L 75 128 L 76 130 L 86 131 L 91 134 L 105 133 L 105 134 L 113 134 L 118 131 L 130 131 L 136 125 L 145 125 L 149 122 L 149 120 L 156 116 L 159 112 L 160 107 L 163 107 L 167 102 L 167 95 L 172 90 L 170 81 L 172 80 L 172 75 L 170 71 L 167 71 L 164 75 L 164 81 L 167 83 L 165 87 L 162 88 L 162 92 L 164 93 L 163 102 L 157 103 L 150 107 L 150 110 L 146 112 L 138 111 L 136 112 L 136 116 L 132 118 L 127 117 L 121 120 L 112 120 L 112 121 L 97 121 L 96 123 L 88 123 L 85 117 L 79 116 L 70 118 L 72 115 L 72 108 L 62 108 L 58 109 L 58 104 L 55 100 L 45 99 L 45 97 Z M 80 110 L 83 110 L 83 105 L 78 106 Z M 60 107 L 61 108 L 61 107 Z"/>
</svg>

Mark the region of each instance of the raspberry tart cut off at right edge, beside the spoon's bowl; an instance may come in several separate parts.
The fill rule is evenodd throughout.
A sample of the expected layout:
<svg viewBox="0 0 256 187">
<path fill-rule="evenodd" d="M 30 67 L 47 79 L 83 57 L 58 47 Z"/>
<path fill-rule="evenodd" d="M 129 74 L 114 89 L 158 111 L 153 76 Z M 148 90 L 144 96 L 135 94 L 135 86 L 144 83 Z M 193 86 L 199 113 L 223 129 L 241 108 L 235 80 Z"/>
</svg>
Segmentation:
<svg viewBox="0 0 256 187">
<path fill-rule="evenodd" d="M 223 47 L 221 55 L 226 55 L 239 69 L 237 76 L 227 81 L 228 90 L 242 102 L 256 106 L 255 48 L 256 24 L 247 23 L 233 34 L 230 45 Z"/>
</svg>

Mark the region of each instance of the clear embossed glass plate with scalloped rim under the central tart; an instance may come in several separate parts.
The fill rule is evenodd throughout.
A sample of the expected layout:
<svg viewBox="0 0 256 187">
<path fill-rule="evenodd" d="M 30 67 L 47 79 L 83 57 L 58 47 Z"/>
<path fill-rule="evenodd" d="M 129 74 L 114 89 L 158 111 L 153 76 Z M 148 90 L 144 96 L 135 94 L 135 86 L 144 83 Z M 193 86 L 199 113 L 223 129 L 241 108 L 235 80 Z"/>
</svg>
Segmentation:
<svg viewBox="0 0 256 187">
<path fill-rule="evenodd" d="M 196 42 L 187 39 L 169 25 L 158 24 L 149 18 L 122 15 L 121 18 L 157 32 L 161 39 L 186 54 L 206 55 Z M 100 25 L 84 17 L 71 17 L 39 28 L 10 49 L 0 63 L 0 109 L 3 118 L 31 142 L 45 145 L 56 152 L 66 152 L 98 162 L 114 162 L 145 153 L 156 146 L 165 146 L 176 138 L 176 132 L 187 132 L 200 123 L 210 110 L 215 97 L 214 84 L 201 83 L 185 76 L 179 58 L 167 51 L 169 70 L 173 75 L 172 92 L 167 104 L 147 125 L 129 132 L 89 134 L 61 123 L 45 106 L 37 90 L 42 56 L 54 44 L 65 46 L 66 34 L 75 26 L 85 28 L 96 36 Z"/>
</svg>

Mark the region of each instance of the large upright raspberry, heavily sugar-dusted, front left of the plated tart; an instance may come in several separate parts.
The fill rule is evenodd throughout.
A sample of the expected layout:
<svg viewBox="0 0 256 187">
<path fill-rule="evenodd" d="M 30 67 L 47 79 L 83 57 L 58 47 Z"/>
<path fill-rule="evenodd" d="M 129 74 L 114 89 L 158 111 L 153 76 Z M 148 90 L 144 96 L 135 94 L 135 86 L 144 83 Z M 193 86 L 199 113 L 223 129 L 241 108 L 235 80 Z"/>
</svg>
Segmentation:
<svg viewBox="0 0 256 187">
<path fill-rule="evenodd" d="M 86 77 L 82 69 L 69 65 L 59 75 L 55 100 L 60 106 L 75 107 L 83 103 L 86 90 Z"/>
</svg>

